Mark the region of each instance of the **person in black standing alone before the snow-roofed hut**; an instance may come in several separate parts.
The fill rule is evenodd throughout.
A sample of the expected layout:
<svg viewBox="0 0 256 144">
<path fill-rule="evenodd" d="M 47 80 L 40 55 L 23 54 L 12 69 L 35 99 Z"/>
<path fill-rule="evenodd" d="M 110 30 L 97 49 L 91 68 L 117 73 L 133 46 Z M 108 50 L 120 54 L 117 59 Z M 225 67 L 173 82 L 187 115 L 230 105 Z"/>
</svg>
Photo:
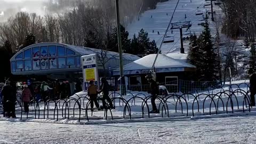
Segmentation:
<svg viewBox="0 0 256 144">
<path fill-rule="evenodd" d="M 153 108 L 153 110 L 151 110 L 150 113 L 157 114 L 159 112 L 156 108 L 156 102 L 155 101 L 156 101 L 159 89 L 158 89 L 156 81 L 154 81 L 154 79 L 153 79 L 153 76 L 147 75 L 146 78 L 149 82 L 149 91 L 148 91 L 148 93 L 151 94 L 151 105 L 152 105 L 152 108 Z"/>
</svg>

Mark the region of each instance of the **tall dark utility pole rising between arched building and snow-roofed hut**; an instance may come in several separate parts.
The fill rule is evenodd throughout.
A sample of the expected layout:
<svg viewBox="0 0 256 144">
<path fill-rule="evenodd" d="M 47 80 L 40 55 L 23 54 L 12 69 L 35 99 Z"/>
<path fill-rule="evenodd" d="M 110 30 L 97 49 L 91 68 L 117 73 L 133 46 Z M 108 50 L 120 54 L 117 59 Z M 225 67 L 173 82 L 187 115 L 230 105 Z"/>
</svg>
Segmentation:
<svg viewBox="0 0 256 144">
<path fill-rule="evenodd" d="M 116 22 L 117 22 L 117 39 L 118 39 L 118 49 L 119 49 L 119 62 L 120 62 L 120 90 L 121 94 L 125 94 L 125 78 L 123 72 L 123 49 L 122 49 L 122 39 L 121 39 L 121 27 L 120 27 L 120 17 L 119 17 L 119 0 L 116 0 Z"/>
</svg>

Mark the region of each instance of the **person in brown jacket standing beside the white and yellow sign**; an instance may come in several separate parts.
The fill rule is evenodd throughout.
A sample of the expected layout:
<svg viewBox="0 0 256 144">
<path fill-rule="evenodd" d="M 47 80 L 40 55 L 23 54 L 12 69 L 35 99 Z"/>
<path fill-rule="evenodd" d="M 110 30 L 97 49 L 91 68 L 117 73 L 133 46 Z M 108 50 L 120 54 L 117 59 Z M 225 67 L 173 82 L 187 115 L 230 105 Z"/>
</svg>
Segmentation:
<svg viewBox="0 0 256 144">
<path fill-rule="evenodd" d="M 89 82 L 88 91 L 87 91 L 89 98 L 91 100 L 91 110 L 93 110 L 93 102 L 95 103 L 95 106 L 100 110 L 99 103 L 97 101 L 97 86 L 93 83 L 93 81 Z"/>
</svg>

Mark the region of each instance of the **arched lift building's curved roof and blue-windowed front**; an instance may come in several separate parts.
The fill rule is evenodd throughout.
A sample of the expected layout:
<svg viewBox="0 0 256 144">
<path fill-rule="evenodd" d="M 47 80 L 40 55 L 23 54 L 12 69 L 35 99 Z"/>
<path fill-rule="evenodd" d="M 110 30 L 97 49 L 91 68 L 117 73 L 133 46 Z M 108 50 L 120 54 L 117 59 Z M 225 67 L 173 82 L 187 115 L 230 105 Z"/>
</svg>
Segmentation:
<svg viewBox="0 0 256 144">
<path fill-rule="evenodd" d="M 102 58 L 105 58 L 106 69 L 119 67 L 119 53 L 116 52 L 60 43 L 37 43 L 11 58 L 11 71 L 13 75 L 82 73 L 81 56 L 94 53 L 99 55 L 99 69 L 102 69 Z M 123 54 L 124 65 L 138 59 L 136 55 Z"/>
</svg>

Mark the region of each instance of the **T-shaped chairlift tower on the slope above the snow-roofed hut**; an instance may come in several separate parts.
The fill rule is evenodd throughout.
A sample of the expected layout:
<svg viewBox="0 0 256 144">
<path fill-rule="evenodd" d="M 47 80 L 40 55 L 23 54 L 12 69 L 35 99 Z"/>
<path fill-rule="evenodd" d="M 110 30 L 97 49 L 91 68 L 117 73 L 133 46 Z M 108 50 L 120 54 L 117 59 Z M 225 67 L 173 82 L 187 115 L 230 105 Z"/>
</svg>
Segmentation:
<svg viewBox="0 0 256 144">
<path fill-rule="evenodd" d="M 184 47 L 183 47 L 183 34 L 182 34 L 182 28 L 190 28 L 191 21 L 183 21 L 183 22 L 175 22 L 171 23 L 172 27 L 171 29 L 180 29 L 180 53 L 185 53 Z"/>
</svg>

